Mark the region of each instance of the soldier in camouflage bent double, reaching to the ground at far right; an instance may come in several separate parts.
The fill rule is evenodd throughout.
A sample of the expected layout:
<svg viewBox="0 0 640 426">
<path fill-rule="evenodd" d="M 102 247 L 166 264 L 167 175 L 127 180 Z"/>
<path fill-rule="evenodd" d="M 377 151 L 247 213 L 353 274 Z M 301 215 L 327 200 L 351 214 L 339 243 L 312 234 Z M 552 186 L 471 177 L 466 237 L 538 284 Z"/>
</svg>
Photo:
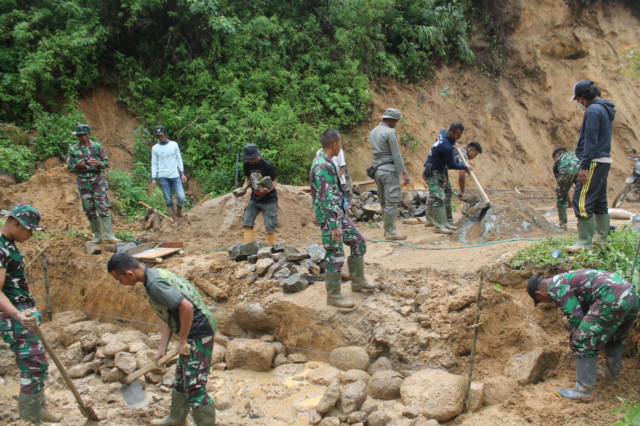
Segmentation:
<svg viewBox="0 0 640 426">
<path fill-rule="evenodd" d="M 556 388 L 558 396 L 593 396 L 600 349 L 606 354 L 607 379 L 618 377 L 625 338 L 640 312 L 640 299 L 632 283 L 612 272 L 577 269 L 551 278 L 532 276 L 527 281 L 527 292 L 534 306 L 555 303 L 569 320 L 576 386 Z"/>
</svg>

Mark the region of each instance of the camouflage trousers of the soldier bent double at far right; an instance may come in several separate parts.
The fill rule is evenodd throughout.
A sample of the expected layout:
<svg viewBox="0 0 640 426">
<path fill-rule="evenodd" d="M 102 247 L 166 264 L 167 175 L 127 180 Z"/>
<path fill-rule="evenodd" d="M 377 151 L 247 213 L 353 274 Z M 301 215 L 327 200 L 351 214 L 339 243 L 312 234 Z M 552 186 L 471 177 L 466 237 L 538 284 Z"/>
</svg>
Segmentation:
<svg viewBox="0 0 640 426">
<path fill-rule="evenodd" d="M 596 299 L 571 335 L 571 350 L 578 358 L 593 358 L 604 347 L 621 347 L 640 312 L 640 299 L 631 292 L 611 304 Z"/>
</svg>

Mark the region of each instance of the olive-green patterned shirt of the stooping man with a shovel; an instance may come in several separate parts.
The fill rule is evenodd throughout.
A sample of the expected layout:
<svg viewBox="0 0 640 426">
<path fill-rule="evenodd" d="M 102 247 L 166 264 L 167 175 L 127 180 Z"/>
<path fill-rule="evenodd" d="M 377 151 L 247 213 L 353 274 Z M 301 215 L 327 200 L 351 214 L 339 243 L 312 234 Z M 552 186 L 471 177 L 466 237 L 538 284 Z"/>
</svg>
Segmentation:
<svg viewBox="0 0 640 426">
<path fill-rule="evenodd" d="M 180 335 L 178 304 L 187 299 L 193 304 L 193 322 L 188 340 L 212 336 L 218 327 L 213 313 L 204 303 L 198 290 L 178 274 L 159 268 L 145 268 L 145 291 L 154 312 L 173 333 Z"/>
</svg>

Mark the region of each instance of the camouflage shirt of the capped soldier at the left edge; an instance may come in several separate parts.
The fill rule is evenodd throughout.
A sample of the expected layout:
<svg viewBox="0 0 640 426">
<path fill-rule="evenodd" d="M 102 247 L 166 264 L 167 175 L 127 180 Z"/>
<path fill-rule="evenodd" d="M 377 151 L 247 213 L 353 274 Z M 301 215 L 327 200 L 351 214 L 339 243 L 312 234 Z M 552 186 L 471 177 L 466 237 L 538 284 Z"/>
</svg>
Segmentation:
<svg viewBox="0 0 640 426">
<path fill-rule="evenodd" d="M 15 241 L 0 233 L 0 268 L 6 270 L 2 292 L 13 304 L 33 301 L 29 294 L 24 256 Z"/>
</svg>

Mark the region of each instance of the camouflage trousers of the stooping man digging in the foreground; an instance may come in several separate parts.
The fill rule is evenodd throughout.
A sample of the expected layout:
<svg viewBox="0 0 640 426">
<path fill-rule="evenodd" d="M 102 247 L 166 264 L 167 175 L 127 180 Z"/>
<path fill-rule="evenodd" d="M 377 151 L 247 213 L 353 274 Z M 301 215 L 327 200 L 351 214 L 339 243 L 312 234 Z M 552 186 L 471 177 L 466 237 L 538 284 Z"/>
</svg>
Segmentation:
<svg viewBox="0 0 640 426">
<path fill-rule="evenodd" d="M 207 378 L 213 355 L 213 336 L 190 340 L 189 346 L 191 347 L 189 356 L 178 356 L 173 389 L 187 394 L 189 406 L 193 408 L 206 406 L 213 402 L 207 393 Z"/>
</svg>

